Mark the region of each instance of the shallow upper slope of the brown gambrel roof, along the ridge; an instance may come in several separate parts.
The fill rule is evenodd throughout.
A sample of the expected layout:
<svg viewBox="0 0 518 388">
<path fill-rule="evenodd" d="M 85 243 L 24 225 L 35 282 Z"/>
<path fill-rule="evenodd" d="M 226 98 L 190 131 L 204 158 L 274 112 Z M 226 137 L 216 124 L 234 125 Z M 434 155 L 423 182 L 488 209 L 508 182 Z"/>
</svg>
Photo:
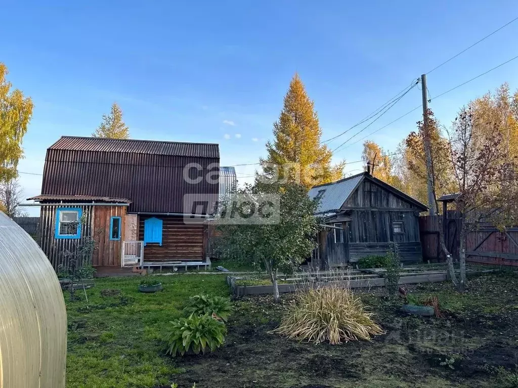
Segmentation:
<svg viewBox="0 0 518 388">
<path fill-rule="evenodd" d="M 189 156 L 199 158 L 219 158 L 218 144 L 181 143 L 172 141 L 87 138 L 62 136 L 49 150 L 125 152 L 150 155 Z"/>
</svg>

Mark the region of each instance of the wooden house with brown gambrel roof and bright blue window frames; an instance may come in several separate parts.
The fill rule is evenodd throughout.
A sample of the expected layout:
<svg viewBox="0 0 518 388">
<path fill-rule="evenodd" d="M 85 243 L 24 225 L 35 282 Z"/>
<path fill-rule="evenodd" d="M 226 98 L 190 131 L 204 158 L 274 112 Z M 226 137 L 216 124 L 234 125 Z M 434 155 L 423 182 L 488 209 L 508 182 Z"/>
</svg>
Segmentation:
<svg viewBox="0 0 518 388">
<path fill-rule="evenodd" d="M 219 159 L 218 144 L 64 136 L 29 198 L 41 206 L 40 246 L 56 269 L 91 238 L 97 268 L 203 266 Z"/>
</svg>

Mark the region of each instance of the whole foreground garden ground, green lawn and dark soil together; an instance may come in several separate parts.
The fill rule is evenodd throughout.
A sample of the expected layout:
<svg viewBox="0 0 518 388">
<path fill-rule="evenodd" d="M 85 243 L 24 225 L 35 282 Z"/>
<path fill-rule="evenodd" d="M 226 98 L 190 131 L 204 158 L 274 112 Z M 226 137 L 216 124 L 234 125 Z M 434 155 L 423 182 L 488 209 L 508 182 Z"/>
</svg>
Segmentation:
<svg viewBox="0 0 518 388">
<path fill-rule="evenodd" d="M 234 302 L 222 348 L 176 359 L 162 352 L 164 324 L 180 316 L 189 296 L 228 295 L 224 279 L 161 276 L 164 290 L 155 294 L 139 293 L 139 280 L 98 279 L 87 290 L 88 307 L 84 295 L 66 301 L 68 388 L 170 388 L 172 382 L 179 388 L 194 382 L 197 388 L 503 388 L 518 354 L 516 273 L 474 277 L 465 294 L 449 282 L 405 286 L 413 294 L 437 295 L 444 318 L 405 314 L 402 302 L 380 287 L 357 290 L 386 334 L 337 346 L 267 334 L 293 294 L 282 295 L 279 304 L 271 295 L 244 296 Z M 440 365 L 445 359 L 453 359 L 453 369 Z"/>
</svg>

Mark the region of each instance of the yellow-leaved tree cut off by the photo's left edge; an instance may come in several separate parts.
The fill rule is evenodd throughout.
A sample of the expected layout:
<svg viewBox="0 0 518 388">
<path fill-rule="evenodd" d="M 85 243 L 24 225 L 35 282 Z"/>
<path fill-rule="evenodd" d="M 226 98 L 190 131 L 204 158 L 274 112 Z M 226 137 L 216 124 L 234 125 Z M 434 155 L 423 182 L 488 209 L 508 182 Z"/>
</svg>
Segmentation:
<svg viewBox="0 0 518 388">
<path fill-rule="evenodd" d="M 0 62 L 0 182 L 18 175 L 18 161 L 23 158 L 22 139 L 32 118 L 33 102 L 19 89 L 11 91 L 7 66 Z"/>
</svg>

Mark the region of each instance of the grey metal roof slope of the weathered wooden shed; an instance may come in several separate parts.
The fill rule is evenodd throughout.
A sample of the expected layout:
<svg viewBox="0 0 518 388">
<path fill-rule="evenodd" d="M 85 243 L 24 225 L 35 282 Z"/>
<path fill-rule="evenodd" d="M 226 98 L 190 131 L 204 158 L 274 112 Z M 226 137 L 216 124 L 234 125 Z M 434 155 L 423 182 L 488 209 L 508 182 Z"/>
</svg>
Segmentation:
<svg viewBox="0 0 518 388">
<path fill-rule="evenodd" d="M 361 173 L 349 176 L 340 181 L 312 187 L 308 192 L 309 197 L 311 199 L 317 196 L 321 198 L 317 213 L 322 214 L 338 211 L 362 181 L 364 175 L 365 173 Z"/>
</svg>

